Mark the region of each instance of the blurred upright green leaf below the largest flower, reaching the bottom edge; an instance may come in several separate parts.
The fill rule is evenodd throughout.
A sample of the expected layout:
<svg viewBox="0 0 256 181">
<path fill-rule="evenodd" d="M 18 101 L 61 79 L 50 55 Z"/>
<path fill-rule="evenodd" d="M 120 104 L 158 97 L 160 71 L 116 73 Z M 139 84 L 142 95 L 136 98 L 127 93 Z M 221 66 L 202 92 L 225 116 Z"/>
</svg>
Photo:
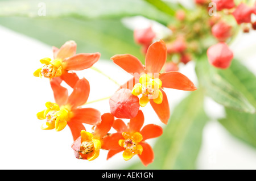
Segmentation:
<svg viewBox="0 0 256 181">
<path fill-rule="evenodd" d="M 155 143 L 154 162 L 147 167 L 139 162 L 129 169 L 196 169 L 202 132 L 208 121 L 203 100 L 201 90 L 183 99 Z"/>
</svg>

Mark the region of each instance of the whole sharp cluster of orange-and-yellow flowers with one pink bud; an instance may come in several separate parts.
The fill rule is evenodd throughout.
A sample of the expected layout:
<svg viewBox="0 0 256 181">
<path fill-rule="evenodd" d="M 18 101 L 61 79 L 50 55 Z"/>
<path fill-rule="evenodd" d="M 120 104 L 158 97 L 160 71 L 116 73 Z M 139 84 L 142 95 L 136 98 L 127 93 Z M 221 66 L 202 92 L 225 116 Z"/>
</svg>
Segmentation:
<svg viewBox="0 0 256 181">
<path fill-rule="evenodd" d="M 146 140 L 161 136 L 163 129 L 156 124 L 144 125 L 140 108 L 150 103 L 160 121 L 167 124 L 170 108 L 164 89 L 194 91 L 196 87 L 178 71 L 162 71 L 167 47 L 163 40 L 159 40 L 148 45 L 145 66 L 131 54 L 110 58 L 133 78 L 114 92 L 109 99 L 110 112 L 102 114 L 95 108 L 83 107 L 89 97 L 90 84 L 72 72 L 88 69 L 99 59 L 100 53 L 76 54 L 76 43 L 67 41 L 60 49 L 53 47 L 53 60 L 40 60 L 44 65 L 34 75 L 49 79 L 55 98 L 55 102 L 47 102 L 46 109 L 36 115 L 39 120 L 44 120 L 41 128 L 59 132 L 68 125 L 74 141 L 71 148 L 77 159 L 93 161 L 100 155 L 100 150 L 108 150 L 109 159 L 123 151 L 126 161 L 138 155 L 147 166 L 154 161 L 154 151 Z M 70 95 L 61 85 L 62 81 L 72 87 Z M 129 119 L 129 122 L 122 119 Z M 92 125 L 92 131 L 86 131 L 86 125 Z"/>
</svg>

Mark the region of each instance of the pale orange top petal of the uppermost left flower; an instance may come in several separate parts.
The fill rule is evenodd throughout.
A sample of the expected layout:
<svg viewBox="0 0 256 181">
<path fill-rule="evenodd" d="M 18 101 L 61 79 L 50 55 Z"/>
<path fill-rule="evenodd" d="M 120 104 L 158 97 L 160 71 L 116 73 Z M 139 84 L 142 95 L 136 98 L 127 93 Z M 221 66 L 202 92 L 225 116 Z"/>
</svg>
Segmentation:
<svg viewBox="0 0 256 181">
<path fill-rule="evenodd" d="M 53 52 L 53 54 L 54 54 L 54 52 Z M 74 54 L 76 54 L 76 43 L 75 43 L 75 41 L 67 41 L 56 52 L 56 58 L 64 60 L 65 58 L 72 57 Z"/>
</svg>

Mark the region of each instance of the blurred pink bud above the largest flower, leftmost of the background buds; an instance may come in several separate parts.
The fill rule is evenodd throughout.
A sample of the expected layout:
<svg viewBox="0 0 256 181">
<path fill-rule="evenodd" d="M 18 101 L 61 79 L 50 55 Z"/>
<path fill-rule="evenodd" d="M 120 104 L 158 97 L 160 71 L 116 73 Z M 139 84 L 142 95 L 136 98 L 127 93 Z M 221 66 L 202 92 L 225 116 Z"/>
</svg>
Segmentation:
<svg viewBox="0 0 256 181">
<path fill-rule="evenodd" d="M 155 36 L 151 27 L 134 30 L 134 40 L 138 44 L 151 44 Z"/>
</svg>

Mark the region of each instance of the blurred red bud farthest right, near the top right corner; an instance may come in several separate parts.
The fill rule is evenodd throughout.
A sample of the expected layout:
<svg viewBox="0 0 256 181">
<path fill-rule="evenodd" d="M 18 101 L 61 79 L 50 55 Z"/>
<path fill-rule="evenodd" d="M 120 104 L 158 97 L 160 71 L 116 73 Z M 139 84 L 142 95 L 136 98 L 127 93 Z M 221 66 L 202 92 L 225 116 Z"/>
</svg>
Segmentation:
<svg viewBox="0 0 256 181">
<path fill-rule="evenodd" d="M 236 7 L 236 10 L 232 13 L 234 18 L 237 20 L 237 24 L 250 23 L 251 14 L 253 13 L 253 8 L 247 6 L 245 3 L 241 3 Z"/>
</svg>

